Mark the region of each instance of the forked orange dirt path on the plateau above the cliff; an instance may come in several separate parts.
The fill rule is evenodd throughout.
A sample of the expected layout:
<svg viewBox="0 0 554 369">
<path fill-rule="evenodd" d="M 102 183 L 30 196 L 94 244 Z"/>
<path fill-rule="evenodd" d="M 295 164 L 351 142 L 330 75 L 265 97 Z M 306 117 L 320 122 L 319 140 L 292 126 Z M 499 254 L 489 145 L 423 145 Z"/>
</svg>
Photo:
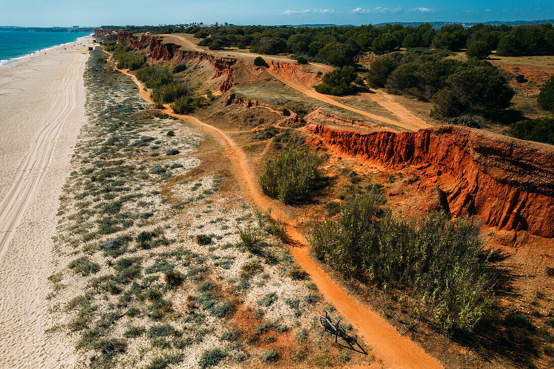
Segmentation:
<svg viewBox="0 0 554 369">
<path fill-rule="evenodd" d="M 419 117 L 409 112 L 408 109 L 406 109 L 406 107 L 402 106 L 401 104 L 398 104 L 398 102 L 396 101 L 393 101 L 391 98 L 388 97 L 387 94 L 383 93 L 382 91 L 377 91 L 375 94 L 363 93 L 362 96 L 377 102 L 377 104 L 381 105 L 382 107 L 390 111 L 392 114 L 396 115 L 398 117 L 398 121 L 388 119 L 386 117 L 382 117 L 377 114 L 372 114 L 370 112 L 356 109 L 355 107 L 342 104 L 341 102 L 338 102 L 332 99 L 329 95 L 320 94 L 310 88 L 307 88 L 305 85 L 295 81 L 289 76 L 286 76 L 281 73 L 276 73 L 274 70 L 271 70 L 271 68 L 268 68 L 268 72 L 269 74 L 273 75 L 276 79 L 280 80 L 284 84 L 292 87 L 293 89 L 301 92 L 304 95 L 310 96 L 310 98 L 327 102 L 327 104 L 342 107 L 342 109 L 356 112 L 358 114 L 370 117 L 371 119 L 375 119 L 383 123 L 391 124 L 394 126 L 402 127 L 408 131 L 418 131 L 423 128 L 432 127 L 432 125 L 428 124 L 424 120 L 420 119 Z"/>
</svg>

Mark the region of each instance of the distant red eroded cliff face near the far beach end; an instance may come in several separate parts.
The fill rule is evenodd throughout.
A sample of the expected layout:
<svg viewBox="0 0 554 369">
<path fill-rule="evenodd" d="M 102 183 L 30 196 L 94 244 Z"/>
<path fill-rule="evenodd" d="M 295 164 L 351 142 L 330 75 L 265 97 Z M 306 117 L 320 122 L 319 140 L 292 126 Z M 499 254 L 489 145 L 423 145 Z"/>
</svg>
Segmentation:
<svg viewBox="0 0 554 369">
<path fill-rule="evenodd" d="M 165 43 L 163 37 L 150 34 L 136 35 L 120 31 L 117 33 L 117 42 L 146 52 L 154 60 L 172 60 L 176 64 L 192 61 L 197 64 L 208 63 L 215 69 L 212 80 L 224 76 L 218 88 L 220 92 L 227 92 L 234 86 L 234 71 L 231 67 L 237 63 L 237 59 L 217 57 L 196 50 L 182 50 L 181 45 Z"/>
</svg>

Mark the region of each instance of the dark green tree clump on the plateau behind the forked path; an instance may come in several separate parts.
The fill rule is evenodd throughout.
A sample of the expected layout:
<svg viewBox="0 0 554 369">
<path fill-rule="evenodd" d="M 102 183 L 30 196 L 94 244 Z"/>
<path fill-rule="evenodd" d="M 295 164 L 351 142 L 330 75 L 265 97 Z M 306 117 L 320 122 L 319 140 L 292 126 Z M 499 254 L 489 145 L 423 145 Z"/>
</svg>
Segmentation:
<svg viewBox="0 0 554 369">
<path fill-rule="evenodd" d="M 383 55 L 371 64 L 367 83 L 392 94 L 433 101 L 437 117 L 490 114 L 510 105 L 514 90 L 488 61 L 440 56 L 425 52 Z"/>
</svg>

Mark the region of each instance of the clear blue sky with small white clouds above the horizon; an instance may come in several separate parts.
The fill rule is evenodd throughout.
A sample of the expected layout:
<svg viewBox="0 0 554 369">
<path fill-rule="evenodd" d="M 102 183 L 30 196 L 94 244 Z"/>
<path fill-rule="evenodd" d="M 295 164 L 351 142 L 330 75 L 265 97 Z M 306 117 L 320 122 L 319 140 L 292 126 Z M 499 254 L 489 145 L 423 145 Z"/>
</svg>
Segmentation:
<svg viewBox="0 0 554 369">
<path fill-rule="evenodd" d="M 552 0 L 0 0 L 0 25 L 367 24 L 553 19 Z"/>
</svg>

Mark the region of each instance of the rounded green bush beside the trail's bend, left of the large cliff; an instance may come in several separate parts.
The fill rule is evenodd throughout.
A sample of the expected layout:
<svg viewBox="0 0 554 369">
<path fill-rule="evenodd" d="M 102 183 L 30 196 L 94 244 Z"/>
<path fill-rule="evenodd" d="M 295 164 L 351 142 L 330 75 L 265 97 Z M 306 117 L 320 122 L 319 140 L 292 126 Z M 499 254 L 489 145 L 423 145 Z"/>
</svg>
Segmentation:
<svg viewBox="0 0 554 369">
<path fill-rule="evenodd" d="M 306 199 L 322 178 L 320 163 L 318 156 L 294 149 L 276 155 L 265 162 L 261 190 L 285 204 Z"/>
</svg>

